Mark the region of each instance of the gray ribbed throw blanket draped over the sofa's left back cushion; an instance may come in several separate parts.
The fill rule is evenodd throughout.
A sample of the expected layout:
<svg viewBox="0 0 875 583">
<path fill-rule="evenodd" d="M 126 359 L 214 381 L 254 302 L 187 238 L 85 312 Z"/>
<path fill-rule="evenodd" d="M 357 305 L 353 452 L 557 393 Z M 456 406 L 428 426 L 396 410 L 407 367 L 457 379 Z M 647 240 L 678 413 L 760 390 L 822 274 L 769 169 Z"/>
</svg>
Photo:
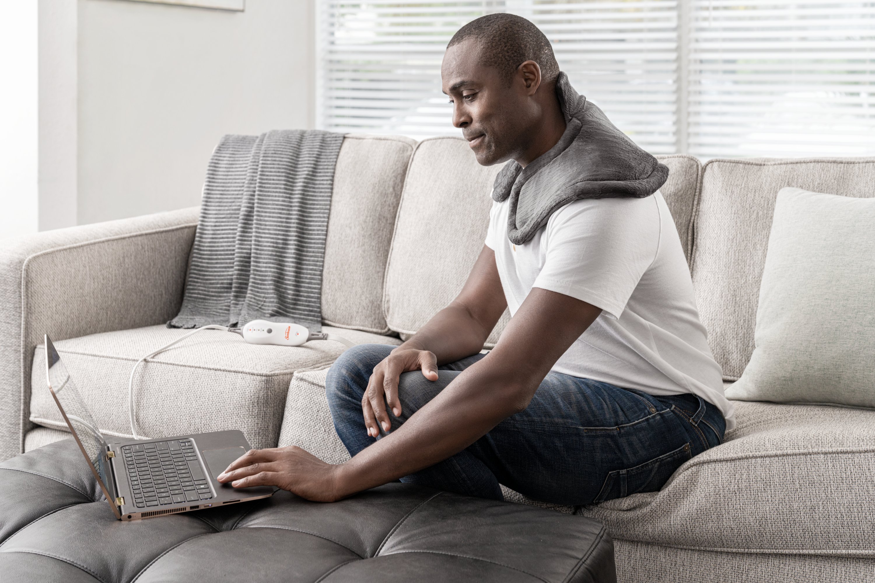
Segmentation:
<svg viewBox="0 0 875 583">
<path fill-rule="evenodd" d="M 322 329 L 322 265 L 342 134 L 226 135 L 207 167 L 179 315 L 168 328 L 282 318 Z"/>
</svg>

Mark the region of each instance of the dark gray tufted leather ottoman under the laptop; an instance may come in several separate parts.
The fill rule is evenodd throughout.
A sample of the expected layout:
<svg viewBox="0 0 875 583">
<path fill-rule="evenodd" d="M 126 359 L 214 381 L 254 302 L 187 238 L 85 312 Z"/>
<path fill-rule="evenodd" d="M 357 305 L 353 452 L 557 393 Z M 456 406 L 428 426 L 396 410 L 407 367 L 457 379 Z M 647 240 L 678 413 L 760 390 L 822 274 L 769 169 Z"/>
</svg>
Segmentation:
<svg viewBox="0 0 875 583">
<path fill-rule="evenodd" d="M 0 580 L 615 581 L 584 517 L 394 483 L 117 521 L 71 440 L 0 464 Z"/>
</svg>

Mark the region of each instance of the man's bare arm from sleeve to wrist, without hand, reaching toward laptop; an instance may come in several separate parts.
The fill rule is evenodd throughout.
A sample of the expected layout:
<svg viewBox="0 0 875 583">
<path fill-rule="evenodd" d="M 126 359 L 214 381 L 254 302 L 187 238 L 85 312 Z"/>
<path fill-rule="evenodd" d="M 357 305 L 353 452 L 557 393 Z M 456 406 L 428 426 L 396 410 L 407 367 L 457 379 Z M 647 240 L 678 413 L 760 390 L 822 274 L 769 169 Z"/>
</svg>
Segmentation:
<svg viewBox="0 0 875 583">
<path fill-rule="evenodd" d="M 568 295 L 533 288 L 494 350 L 394 433 L 339 466 L 339 497 L 445 460 L 525 409 L 556 360 L 600 313 Z"/>
</svg>

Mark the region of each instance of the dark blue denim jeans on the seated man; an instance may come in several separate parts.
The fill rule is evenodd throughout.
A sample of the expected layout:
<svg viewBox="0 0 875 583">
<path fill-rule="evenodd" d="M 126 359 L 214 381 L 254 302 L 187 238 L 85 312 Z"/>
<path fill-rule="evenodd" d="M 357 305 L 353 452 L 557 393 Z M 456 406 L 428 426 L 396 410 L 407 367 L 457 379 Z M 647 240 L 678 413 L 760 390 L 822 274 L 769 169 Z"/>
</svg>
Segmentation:
<svg viewBox="0 0 875 583">
<path fill-rule="evenodd" d="M 374 366 L 392 348 L 361 344 L 346 350 L 328 371 L 328 406 L 350 455 L 379 439 L 366 433 L 361 399 Z M 402 374 L 402 414 L 388 412 L 392 429 L 484 356 L 438 367 L 436 381 L 420 371 Z M 724 431 L 718 408 L 696 395 L 655 397 L 550 372 L 525 411 L 501 421 L 458 454 L 401 481 L 495 500 L 503 499 L 499 484 L 504 484 L 542 502 L 599 503 L 660 489 L 683 462 L 719 445 Z"/>
</svg>

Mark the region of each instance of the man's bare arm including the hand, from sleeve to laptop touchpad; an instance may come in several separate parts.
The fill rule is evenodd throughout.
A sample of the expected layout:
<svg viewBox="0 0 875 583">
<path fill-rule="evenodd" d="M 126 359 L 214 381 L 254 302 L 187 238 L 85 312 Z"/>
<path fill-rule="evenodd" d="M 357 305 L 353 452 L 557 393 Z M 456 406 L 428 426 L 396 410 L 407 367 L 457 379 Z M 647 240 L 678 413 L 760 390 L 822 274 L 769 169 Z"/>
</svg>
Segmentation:
<svg viewBox="0 0 875 583">
<path fill-rule="evenodd" d="M 525 409 L 552 365 L 600 313 L 568 295 L 533 288 L 494 350 L 353 459 L 330 465 L 300 448 L 253 450 L 220 480 L 236 487 L 273 484 L 312 500 L 337 500 L 428 468 Z"/>
</svg>

